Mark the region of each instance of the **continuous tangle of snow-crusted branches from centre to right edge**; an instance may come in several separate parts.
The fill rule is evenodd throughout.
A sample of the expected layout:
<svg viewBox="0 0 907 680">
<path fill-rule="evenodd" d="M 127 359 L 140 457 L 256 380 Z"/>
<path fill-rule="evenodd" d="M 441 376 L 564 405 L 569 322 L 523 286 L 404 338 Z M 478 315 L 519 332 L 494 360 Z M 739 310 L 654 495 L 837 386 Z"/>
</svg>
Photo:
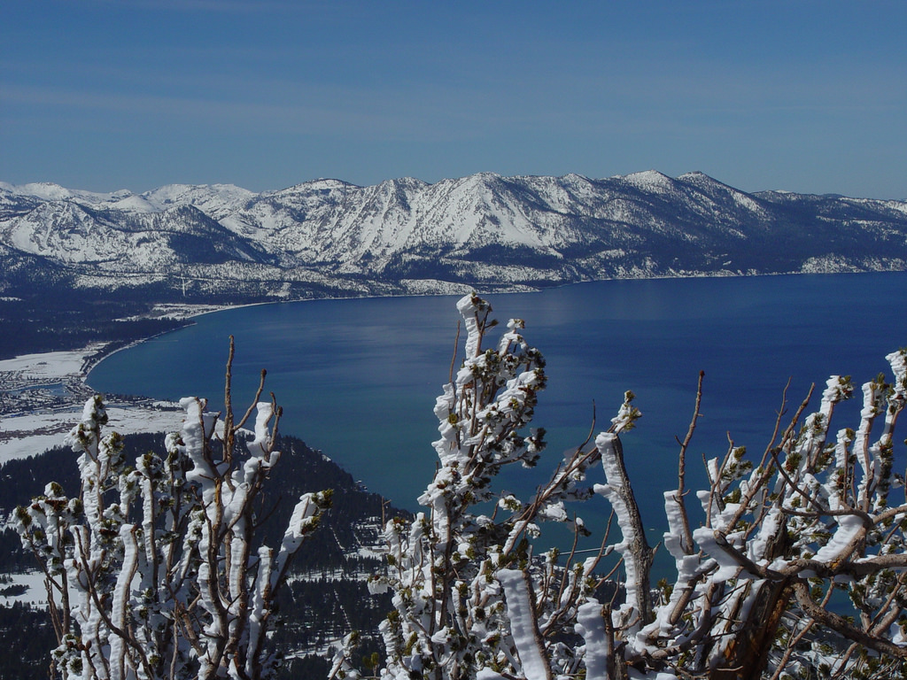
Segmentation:
<svg viewBox="0 0 907 680">
<path fill-rule="evenodd" d="M 512 321 L 497 349 L 485 350 L 491 307 L 476 296 L 457 307 L 466 352 L 435 406 L 439 466 L 419 499 L 428 511 L 387 524 L 387 571 L 372 583 L 394 593 L 395 611 L 381 627 L 382 677 L 907 672 L 907 499 L 893 437 L 907 394 L 907 351 L 887 357 L 891 384 L 880 377 L 863 385 L 856 429 L 830 429 L 835 405 L 853 392 L 848 378 L 832 376 L 815 413 L 807 415 L 811 391 L 789 424 L 779 415 L 761 460 L 748 461 L 733 441 L 722 456 L 704 457 L 707 488 L 688 496 L 700 374 L 688 433 L 678 439 L 678 488 L 664 492 L 663 542 L 675 578 L 653 589 L 653 550 L 620 439 L 639 417 L 632 394 L 595 445 L 568 452 L 532 498 L 493 493 L 503 465 L 534 464 L 541 452 L 541 431 L 522 429 L 544 386 L 543 364 L 523 340 L 522 322 Z M 603 483 L 590 484 L 599 461 Z M 568 502 L 594 496 L 609 502 L 619 542 L 606 535 L 596 558 L 574 561 L 571 551 L 563 566 L 557 550 L 533 554 L 541 520 L 588 533 Z M 688 507 L 688 497 L 700 509 Z M 625 578 L 623 592 L 612 590 L 606 601 L 594 597 L 595 569 L 609 554 L 619 556 Z M 849 596 L 849 616 L 831 610 L 836 590 Z M 335 667 L 355 675 L 348 658 L 339 656 Z"/>
</svg>

